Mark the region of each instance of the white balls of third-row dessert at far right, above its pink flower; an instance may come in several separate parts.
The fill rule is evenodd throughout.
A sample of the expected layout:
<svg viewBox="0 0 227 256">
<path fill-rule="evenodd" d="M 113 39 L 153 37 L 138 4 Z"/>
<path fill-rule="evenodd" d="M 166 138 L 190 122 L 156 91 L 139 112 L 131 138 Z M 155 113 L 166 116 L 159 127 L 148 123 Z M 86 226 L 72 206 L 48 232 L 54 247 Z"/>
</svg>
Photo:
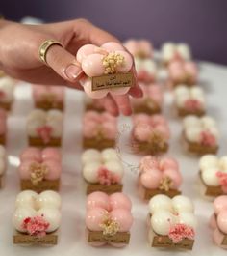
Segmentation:
<svg viewBox="0 0 227 256">
<path fill-rule="evenodd" d="M 183 127 L 186 137 L 190 142 L 199 142 L 200 133 L 204 131 L 209 131 L 216 140 L 219 138 L 219 129 L 216 122 L 209 116 L 199 118 L 189 115 L 184 118 Z"/>
</svg>

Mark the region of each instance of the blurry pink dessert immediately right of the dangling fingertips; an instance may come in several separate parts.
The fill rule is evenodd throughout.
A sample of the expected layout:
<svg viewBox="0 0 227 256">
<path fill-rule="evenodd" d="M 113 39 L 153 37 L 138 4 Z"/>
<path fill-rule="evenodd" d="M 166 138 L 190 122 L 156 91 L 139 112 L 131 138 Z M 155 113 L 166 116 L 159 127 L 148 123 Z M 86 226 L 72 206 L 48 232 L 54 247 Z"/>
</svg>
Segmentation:
<svg viewBox="0 0 227 256">
<path fill-rule="evenodd" d="M 143 98 L 133 98 L 133 108 L 135 113 L 157 114 L 162 110 L 164 101 L 163 91 L 158 84 L 145 85 L 140 83 L 143 91 Z"/>
</svg>

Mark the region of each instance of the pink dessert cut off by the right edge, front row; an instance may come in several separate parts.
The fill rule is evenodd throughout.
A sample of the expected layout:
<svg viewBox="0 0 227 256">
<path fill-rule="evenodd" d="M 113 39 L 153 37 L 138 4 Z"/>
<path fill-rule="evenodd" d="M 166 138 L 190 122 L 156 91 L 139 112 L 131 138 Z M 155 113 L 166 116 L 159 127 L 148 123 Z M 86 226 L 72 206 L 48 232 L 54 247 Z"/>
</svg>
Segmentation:
<svg viewBox="0 0 227 256">
<path fill-rule="evenodd" d="M 210 219 L 213 229 L 213 240 L 216 245 L 227 249 L 227 195 L 218 196 L 214 200 L 214 214 Z"/>
</svg>

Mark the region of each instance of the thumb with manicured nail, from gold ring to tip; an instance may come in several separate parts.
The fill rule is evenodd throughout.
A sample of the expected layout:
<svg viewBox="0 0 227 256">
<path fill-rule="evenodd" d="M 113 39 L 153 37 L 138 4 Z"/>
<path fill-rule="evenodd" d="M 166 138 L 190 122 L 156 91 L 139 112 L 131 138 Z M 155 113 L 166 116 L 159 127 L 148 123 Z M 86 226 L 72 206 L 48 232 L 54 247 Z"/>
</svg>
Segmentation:
<svg viewBox="0 0 227 256">
<path fill-rule="evenodd" d="M 58 44 L 49 47 L 46 52 L 46 62 L 50 68 L 70 83 L 78 82 L 83 74 L 75 56 Z"/>
</svg>

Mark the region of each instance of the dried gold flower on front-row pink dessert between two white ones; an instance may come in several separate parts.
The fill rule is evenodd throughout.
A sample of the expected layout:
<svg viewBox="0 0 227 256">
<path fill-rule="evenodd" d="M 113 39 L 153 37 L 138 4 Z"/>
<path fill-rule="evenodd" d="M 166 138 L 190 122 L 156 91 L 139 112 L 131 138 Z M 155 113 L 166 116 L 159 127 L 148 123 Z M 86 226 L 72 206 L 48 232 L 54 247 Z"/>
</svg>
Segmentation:
<svg viewBox="0 0 227 256">
<path fill-rule="evenodd" d="M 108 213 L 103 217 L 103 222 L 100 224 L 100 227 L 103 229 L 104 236 L 113 237 L 120 229 L 120 225 L 115 221 Z"/>
</svg>

